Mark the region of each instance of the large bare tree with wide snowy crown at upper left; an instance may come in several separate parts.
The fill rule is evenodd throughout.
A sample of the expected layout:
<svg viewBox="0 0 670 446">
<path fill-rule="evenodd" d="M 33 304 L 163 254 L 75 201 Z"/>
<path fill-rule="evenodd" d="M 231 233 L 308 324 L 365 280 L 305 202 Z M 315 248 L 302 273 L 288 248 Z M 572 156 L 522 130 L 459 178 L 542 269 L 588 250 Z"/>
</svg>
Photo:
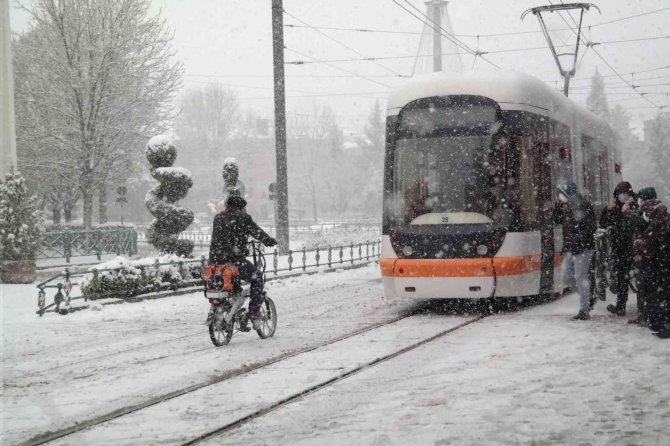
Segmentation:
<svg viewBox="0 0 670 446">
<path fill-rule="evenodd" d="M 14 42 L 21 162 L 75 182 L 87 228 L 94 190 L 127 177 L 142 141 L 173 117 L 183 70 L 149 4 L 36 0 L 24 6 L 30 29 Z"/>
</svg>

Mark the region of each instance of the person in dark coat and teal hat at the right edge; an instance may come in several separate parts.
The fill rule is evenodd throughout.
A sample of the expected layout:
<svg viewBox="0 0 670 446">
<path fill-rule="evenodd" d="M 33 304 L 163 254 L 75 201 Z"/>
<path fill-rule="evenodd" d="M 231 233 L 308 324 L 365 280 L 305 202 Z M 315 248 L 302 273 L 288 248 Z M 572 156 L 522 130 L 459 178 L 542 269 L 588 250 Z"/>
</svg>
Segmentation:
<svg viewBox="0 0 670 446">
<path fill-rule="evenodd" d="M 645 265 L 645 296 L 649 326 L 660 337 L 670 337 L 670 214 L 658 199 L 644 200 L 640 206 L 649 226 L 635 239 L 636 263 Z"/>
</svg>

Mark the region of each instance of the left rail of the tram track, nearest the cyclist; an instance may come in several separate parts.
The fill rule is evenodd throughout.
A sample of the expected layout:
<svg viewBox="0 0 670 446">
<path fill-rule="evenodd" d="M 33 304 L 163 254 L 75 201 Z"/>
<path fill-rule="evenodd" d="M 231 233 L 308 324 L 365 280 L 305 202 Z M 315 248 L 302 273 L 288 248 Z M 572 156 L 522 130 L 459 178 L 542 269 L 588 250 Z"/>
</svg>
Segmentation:
<svg viewBox="0 0 670 446">
<path fill-rule="evenodd" d="M 64 439 L 64 438 L 66 438 L 68 436 L 71 436 L 73 434 L 76 434 L 78 432 L 93 428 L 95 426 L 98 426 L 100 424 L 103 424 L 103 423 L 106 423 L 106 422 L 109 422 L 109 421 L 113 421 L 113 420 L 122 418 L 122 417 L 130 415 L 132 413 L 135 413 L 135 412 L 141 411 L 143 409 L 149 408 L 151 406 L 170 401 L 174 398 L 177 398 L 177 397 L 180 397 L 180 396 L 183 396 L 183 395 L 187 395 L 189 393 L 196 392 L 200 389 L 203 389 L 203 388 L 206 388 L 206 387 L 209 387 L 209 386 L 213 386 L 215 384 L 222 383 L 222 382 L 230 380 L 232 378 L 236 378 L 236 377 L 239 377 L 239 376 L 242 376 L 242 375 L 245 375 L 245 374 L 260 370 L 260 369 L 263 369 L 265 367 L 271 366 L 273 364 L 277 364 L 277 363 L 282 362 L 282 361 L 286 361 L 286 360 L 294 358 L 296 356 L 303 355 L 303 354 L 321 349 L 323 347 L 335 344 L 337 342 L 341 342 L 341 341 L 353 338 L 355 336 L 359 336 L 359 335 L 362 335 L 364 333 L 370 332 L 372 330 L 375 330 L 375 329 L 393 324 L 393 323 L 401 321 L 403 319 L 410 318 L 412 316 L 415 316 L 420 311 L 421 311 L 420 309 L 415 309 L 412 312 L 404 313 L 404 314 L 401 314 L 399 316 L 396 316 L 396 317 L 393 317 L 393 318 L 390 318 L 390 319 L 386 319 L 386 320 L 383 320 L 383 321 L 380 321 L 380 322 L 376 322 L 374 324 L 366 325 L 366 326 L 364 326 L 362 328 L 359 328 L 357 330 L 351 331 L 351 332 L 343 334 L 343 335 L 336 336 L 334 338 L 328 339 L 326 341 L 323 341 L 323 342 L 320 342 L 320 343 L 317 343 L 317 344 L 314 344 L 314 345 L 311 345 L 311 346 L 291 350 L 291 351 L 282 353 L 281 355 L 277 355 L 277 356 L 274 356 L 274 357 L 271 357 L 271 358 L 253 363 L 253 364 L 243 365 L 243 366 L 238 367 L 236 369 L 226 371 L 225 373 L 222 373 L 220 375 L 210 377 L 209 379 L 207 379 L 205 381 L 202 381 L 202 382 L 199 382 L 199 383 L 196 383 L 196 384 L 192 384 L 190 386 L 186 386 L 186 387 L 183 387 L 181 389 L 177 389 L 177 390 L 174 390 L 174 391 L 162 394 L 162 395 L 158 395 L 158 396 L 149 398 L 149 399 L 147 399 L 145 401 L 142 401 L 142 402 L 139 402 L 137 404 L 128 405 L 128 406 L 113 410 L 111 412 L 108 412 L 108 413 L 105 413 L 105 414 L 102 414 L 102 415 L 99 415 L 99 416 L 96 416 L 96 417 L 92 417 L 92 418 L 89 418 L 89 419 L 86 419 L 86 420 L 75 422 L 74 424 L 71 424 L 71 425 L 66 426 L 64 428 L 61 428 L 61 429 L 57 429 L 57 430 L 54 430 L 54 431 L 49 431 L 49 432 L 45 432 L 45 433 L 36 435 L 36 436 L 34 436 L 34 437 L 24 441 L 24 442 L 18 443 L 18 444 L 21 445 L 21 446 L 28 446 L 28 445 L 33 446 L 33 445 L 42 445 L 42 444 L 50 443 L 50 442 L 53 442 L 53 441 L 59 440 L 59 439 Z M 476 319 L 479 319 L 479 318 L 476 318 Z M 208 348 L 208 350 L 211 350 L 211 347 Z"/>
</svg>

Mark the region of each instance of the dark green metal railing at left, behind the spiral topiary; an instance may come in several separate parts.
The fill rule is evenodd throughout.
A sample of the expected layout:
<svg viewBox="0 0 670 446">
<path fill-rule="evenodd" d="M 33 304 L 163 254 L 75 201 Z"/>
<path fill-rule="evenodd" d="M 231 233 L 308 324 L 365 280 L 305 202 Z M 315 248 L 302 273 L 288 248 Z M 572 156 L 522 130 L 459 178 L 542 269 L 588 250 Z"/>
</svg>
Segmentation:
<svg viewBox="0 0 670 446">
<path fill-rule="evenodd" d="M 38 259 L 95 255 L 100 260 L 105 254 L 137 253 L 137 232 L 127 228 L 95 228 L 91 230 L 59 229 L 47 231 L 37 251 Z"/>
</svg>

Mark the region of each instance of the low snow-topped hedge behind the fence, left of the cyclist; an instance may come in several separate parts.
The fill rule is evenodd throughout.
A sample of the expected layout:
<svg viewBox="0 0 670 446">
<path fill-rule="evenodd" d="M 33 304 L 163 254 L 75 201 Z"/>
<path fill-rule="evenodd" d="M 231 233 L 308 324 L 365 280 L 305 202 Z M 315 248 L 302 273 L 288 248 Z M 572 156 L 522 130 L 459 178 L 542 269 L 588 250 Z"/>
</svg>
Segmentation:
<svg viewBox="0 0 670 446">
<path fill-rule="evenodd" d="M 172 264 L 156 267 L 156 260 L 159 264 Z M 89 273 L 79 281 L 79 288 L 82 295 L 89 299 L 132 297 L 161 288 L 177 287 L 186 281 L 202 278 L 201 265 L 190 262 L 180 266 L 180 262 L 185 260 L 187 259 L 174 254 L 138 260 L 117 257 L 89 268 Z"/>
</svg>

